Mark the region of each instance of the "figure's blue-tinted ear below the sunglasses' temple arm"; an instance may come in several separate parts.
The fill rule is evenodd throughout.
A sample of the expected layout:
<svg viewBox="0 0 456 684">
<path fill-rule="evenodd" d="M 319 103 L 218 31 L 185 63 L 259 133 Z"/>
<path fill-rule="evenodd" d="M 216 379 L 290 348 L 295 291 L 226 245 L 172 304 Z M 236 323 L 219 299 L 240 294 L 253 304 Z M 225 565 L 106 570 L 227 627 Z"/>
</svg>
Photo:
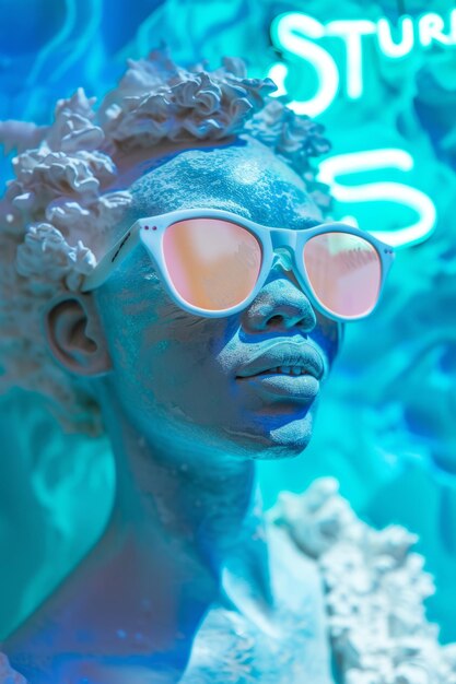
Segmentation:
<svg viewBox="0 0 456 684">
<path fill-rule="evenodd" d="M 106 339 L 91 295 L 74 293 L 54 299 L 46 311 L 45 330 L 51 353 L 67 370 L 89 377 L 110 369 Z"/>
</svg>

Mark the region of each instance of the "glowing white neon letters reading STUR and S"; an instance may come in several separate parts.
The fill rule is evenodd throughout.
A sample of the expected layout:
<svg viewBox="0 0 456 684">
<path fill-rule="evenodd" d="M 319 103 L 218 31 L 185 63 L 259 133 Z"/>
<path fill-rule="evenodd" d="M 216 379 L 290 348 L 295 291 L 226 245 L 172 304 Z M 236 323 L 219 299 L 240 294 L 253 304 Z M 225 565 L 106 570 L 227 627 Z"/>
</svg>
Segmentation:
<svg viewBox="0 0 456 684">
<path fill-rule="evenodd" d="M 321 23 L 302 12 L 288 12 L 273 21 L 271 36 L 285 60 L 274 63 L 268 73 L 279 87 L 276 95 L 288 94 L 291 97 L 288 104 L 290 109 L 296 114 L 316 117 L 328 109 L 341 92 L 341 69 L 347 74 L 343 81 L 344 97 L 349 101 L 360 101 L 363 97 L 363 54 L 366 47 L 372 51 L 372 45 L 367 46 L 367 40 L 373 40 L 382 58 L 389 60 L 407 58 L 417 46 L 421 50 L 434 46 L 456 46 L 456 10 L 449 13 L 446 24 L 442 16 L 429 12 L 417 20 L 402 16 L 396 26 L 387 19 L 376 22 L 360 19 Z M 334 43 L 335 39 L 337 44 Z M 340 62 L 341 47 L 342 66 L 336 60 L 337 55 Z M 308 92 L 304 94 L 300 90 L 302 83 L 307 81 L 305 76 L 308 75 L 308 67 L 316 75 L 316 81 L 309 80 L 313 87 L 311 96 Z M 288 93 L 287 86 L 293 87 L 295 92 Z M 346 203 L 353 207 L 366 202 L 389 205 L 389 211 L 385 212 L 382 221 L 387 229 L 372 233 L 395 247 L 401 247 L 425 240 L 436 223 L 436 210 L 431 198 L 407 185 L 407 174 L 412 172 L 413 165 L 413 157 L 405 150 L 361 150 L 320 162 L 319 179 L 330 186 L 334 198 L 342 205 Z M 387 178 L 388 169 L 395 170 L 396 176 L 397 172 L 404 172 L 406 182 L 379 181 L 378 172 L 385 170 Z M 375 180 L 369 177 L 370 172 L 377 172 Z M 366 180 L 363 178 L 358 185 L 353 185 L 353 180 L 358 179 L 350 179 L 350 176 L 364 173 L 367 174 Z M 391 214 L 391 207 L 395 205 L 397 209 Z M 405 209 L 412 210 L 417 220 L 412 224 L 398 227 L 397 216 L 404 217 Z M 388 214 L 394 216 L 389 221 L 389 227 Z M 344 220 L 356 223 L 352 216 L 346 216 Z M 407 221 L 409 220 L 405 219 Z"/>
</svg>

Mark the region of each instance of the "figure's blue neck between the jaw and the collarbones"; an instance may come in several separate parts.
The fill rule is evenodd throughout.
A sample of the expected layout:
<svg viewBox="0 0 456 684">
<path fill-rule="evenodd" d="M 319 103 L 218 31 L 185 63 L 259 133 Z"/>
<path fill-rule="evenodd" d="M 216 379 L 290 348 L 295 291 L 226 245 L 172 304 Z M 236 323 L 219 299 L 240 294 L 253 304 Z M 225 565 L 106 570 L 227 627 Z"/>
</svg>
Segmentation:
<svg viewBox="0 0 456 684">
<path fill-rule="evenodd" d="M 239 549 L 260 538 L 262 514 L 255 463 L 218 453 L 201 453 L 198 445 L 163 451 L 159 440 L 138 435 L 128 420 L 110 426 L 117 484 L 106 534 L 129 535 L 141 547 L 156 536 L 195 554 L 217 580 Z"/>
</svg>

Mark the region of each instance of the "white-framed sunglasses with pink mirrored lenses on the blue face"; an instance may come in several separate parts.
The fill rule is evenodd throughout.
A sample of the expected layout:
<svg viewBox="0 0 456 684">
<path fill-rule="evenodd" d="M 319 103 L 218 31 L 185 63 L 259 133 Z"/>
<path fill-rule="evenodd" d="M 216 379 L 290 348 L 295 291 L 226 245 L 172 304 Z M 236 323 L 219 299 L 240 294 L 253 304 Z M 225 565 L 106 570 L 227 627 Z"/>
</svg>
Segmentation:
<svg viewBox="0 0 456 684">
<path fill-rule="evenodd" d="M 191 209 L 140 219 L 84 280 L 90 292 L 142 243 L 169 296 L 217 318 L 246 308 L 280 263 L 311 303 L 337 321 L 364 318 L 378 303 L 394 250 L 343 223 L 271 228 L 227 211 Z"/>
</svg>

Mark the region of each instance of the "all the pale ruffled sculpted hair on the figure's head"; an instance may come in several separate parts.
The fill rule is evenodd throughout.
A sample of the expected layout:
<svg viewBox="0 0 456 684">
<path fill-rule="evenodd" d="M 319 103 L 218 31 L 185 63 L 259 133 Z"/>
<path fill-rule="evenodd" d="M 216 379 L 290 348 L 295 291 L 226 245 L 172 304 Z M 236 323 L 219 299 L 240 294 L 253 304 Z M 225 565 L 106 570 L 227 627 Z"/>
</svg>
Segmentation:
<svg viewBox="0 0 456 684">
<path fill-rule="evenodd" d="M 309 157 L 328 144 L 311 119 L 272 101 L 273 90 L 269 79 L 246 78 L 241 60 L 225 59 L 214 71 L 187 70 L 155 51 L 129 62 L 96 113 L 80 89 L 57 103 L 49 127 L 0 123 L 0 143 L 20 152 L 0 201 L 0 391 L 19 386 L 39 392 L 77 429 L 101 429 L 93 402 L 48 355 L 42 312 L 52 295 L 78 291 L 113 241 L 131 198 L 109 188 L 129 155 L 150 150 L 153 156 L 163 143 L 248 134 L 301 173 L 327 209 L 329 197 L 315 182 Z"/>
</svg>

